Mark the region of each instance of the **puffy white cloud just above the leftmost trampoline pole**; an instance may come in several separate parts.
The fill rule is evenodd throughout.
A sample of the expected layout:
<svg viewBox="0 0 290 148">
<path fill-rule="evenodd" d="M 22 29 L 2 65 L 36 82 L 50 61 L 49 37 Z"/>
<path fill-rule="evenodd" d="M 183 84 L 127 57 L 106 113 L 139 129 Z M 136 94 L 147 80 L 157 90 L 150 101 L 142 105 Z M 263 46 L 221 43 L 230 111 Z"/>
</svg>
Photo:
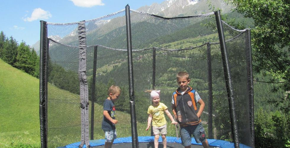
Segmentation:
<svg viewBox="0 0 290 148">
<path fill-rule="evenodd" d="M 22 19 L 24 21 L 31 22 L 31 21 L 38 20 L 38 19 L 43 19 L 43 20 L 49 19 L 50 17 L 52 17 L 52 15 L 50 14 L 49 11 L 45 11 L 41 8 L 36 8 L 33 10 L 31 17 L 25 17 Z"/>
</svg>

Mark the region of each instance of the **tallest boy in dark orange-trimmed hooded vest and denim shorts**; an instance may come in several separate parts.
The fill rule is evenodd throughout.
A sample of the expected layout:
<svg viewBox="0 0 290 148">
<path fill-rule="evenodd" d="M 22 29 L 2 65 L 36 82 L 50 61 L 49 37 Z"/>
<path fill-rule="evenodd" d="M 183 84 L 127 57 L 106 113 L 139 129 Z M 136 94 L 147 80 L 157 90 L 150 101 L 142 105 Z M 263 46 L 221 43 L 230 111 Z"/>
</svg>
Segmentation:
<svg viewBox="0 0 290 148">
<path fill-rule="evenodd" d="M 188 86 L 190 82 L 188 73 L 184 71 L 177 73 L 176 81 L 179 88 L 172 96 L 172 112 L 180 125 L 181 144 L 185 148 L 190 148 L 192 134 L 197 143 L 201 142 L 202 146 L 207 148 L 209 145 L 200 120 L 204 102 L 198 93 Z M 200 105 L 199 110 L 196 103 Z"/>
</svg>

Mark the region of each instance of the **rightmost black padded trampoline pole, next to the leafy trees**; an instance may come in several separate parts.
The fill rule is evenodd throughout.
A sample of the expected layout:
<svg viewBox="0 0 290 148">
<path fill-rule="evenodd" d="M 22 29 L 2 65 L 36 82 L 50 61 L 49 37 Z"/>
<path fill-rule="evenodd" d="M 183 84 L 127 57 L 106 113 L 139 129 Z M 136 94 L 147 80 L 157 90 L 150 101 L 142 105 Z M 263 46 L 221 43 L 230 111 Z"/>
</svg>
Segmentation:
<svg viewBox="0 0 290 148">
<path fill-rule="evenodd" d="M 251 131 L 251 147 L 255 147 L 255 125 L 254 125 L 254 84 L 252 69 L 252 46 L 251 30 L 246 30 L 246 61 L 247 61 L 247 80 L 248 80 L 248 97 L 249 97 L 249 120 Z"/>
</svg>

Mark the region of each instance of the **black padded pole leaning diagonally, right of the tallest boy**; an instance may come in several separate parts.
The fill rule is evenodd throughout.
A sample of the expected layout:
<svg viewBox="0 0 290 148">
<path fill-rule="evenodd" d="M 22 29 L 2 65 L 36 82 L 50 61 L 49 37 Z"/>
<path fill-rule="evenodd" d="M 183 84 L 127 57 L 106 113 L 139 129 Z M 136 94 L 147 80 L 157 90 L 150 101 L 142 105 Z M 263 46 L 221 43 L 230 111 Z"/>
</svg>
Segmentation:
<svg viewBox="0 0 290 148">
<path fill-rule="evenodd" d="M 235 148 L 239 148 L 239 135 L 238 135 L 236 112 L 235 112 L 236 108 L 235 108 L 235 102 L 233 98 L 233 84 L 231 80 L 230 66 L 228 62 L 228 54 L 227 54 L 227 49 L 225 45 L 225 36 L 223 34 L 223 25 L 222 25 L 222 19 L 220 17 L 220 11 L 215 11 L 215 20 L 217 22 L 218 36 L 220 39 L 220 51 L 222 54 L 223 71 L 225 75 L 225 85 L 226 85 L 227 94 L 228 94 L 228 104 L 229 104 L 229 110 L 230 110 L 230 116 L 231 116 L 233 142 L 234 142 Z"/>
</svg>

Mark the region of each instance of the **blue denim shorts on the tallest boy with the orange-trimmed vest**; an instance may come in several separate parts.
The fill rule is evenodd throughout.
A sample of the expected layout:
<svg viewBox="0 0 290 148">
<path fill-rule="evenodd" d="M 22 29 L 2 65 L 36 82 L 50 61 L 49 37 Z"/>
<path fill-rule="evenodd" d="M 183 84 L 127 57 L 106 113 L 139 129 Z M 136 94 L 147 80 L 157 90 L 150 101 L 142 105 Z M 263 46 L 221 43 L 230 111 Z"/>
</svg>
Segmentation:
<svg viewBox="0 0 290 148">
<path fill-rule="evenodd" d="M 195 126 L 180 127 L 181 144 L 185 147 L 191 145 L 191 135 L 194 136 L 196 143 L 205 141 L 206 135 L 202 123 Z"/>
</svg>

